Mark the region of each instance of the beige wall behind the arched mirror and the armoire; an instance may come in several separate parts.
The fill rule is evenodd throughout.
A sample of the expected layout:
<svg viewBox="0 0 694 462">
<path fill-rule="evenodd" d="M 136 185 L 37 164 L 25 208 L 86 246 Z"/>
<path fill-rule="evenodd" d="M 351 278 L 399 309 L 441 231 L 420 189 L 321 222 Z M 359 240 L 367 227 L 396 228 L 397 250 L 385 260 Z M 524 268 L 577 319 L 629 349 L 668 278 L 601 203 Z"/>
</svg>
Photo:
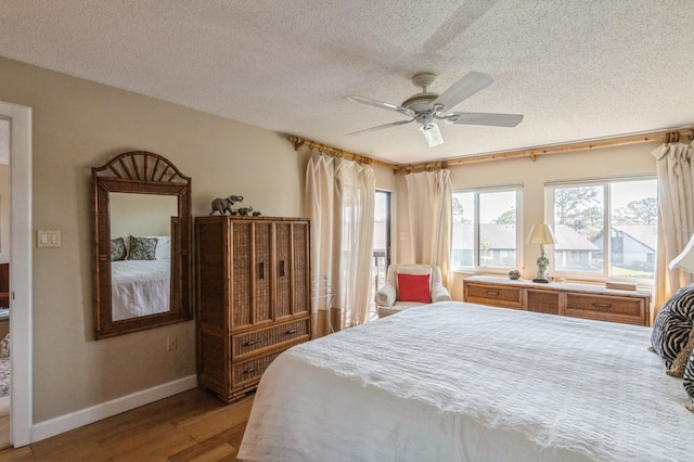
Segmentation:
<svg viewBox="0 0 694 462">
<path fill-rule="evenodd" d="M 280 133 L 2 57 L 0 101 L 33 108 L 31 232 L 62 230 L 62 247 L 34 248 L 34 423 L 194 374 L 194 322 L 94 341 L 90 168 L 151 151 L 192 178 L 194 216 L 237 194 L 291 217 L 301 213 L 306 159 Z M 376 171 L 388 188 L 391 172 Z"/>
</svg>

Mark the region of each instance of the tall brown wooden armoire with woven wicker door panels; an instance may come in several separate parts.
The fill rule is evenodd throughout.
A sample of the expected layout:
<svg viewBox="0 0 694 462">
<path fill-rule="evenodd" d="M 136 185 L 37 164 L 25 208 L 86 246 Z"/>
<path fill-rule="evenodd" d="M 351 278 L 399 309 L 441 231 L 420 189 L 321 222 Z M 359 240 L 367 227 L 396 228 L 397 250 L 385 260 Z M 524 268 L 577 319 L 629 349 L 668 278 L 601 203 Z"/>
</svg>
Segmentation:
<svg viewBox="0 0 694 462">
<path fill-rule="evenodd" d="M 195 218 L 201 388 L 234 401 L 310 339 L 309 232 L 299 218 Z"/>
</svg>

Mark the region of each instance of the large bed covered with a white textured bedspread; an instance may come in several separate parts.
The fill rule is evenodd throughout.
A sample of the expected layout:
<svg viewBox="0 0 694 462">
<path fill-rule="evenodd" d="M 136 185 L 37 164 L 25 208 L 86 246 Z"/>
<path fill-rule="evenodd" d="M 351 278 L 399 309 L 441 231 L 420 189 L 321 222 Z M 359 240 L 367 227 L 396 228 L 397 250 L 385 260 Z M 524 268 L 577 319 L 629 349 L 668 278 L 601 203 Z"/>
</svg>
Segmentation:
<svg viewBox="0 0 694 462">
<path fill-rule="evenodd" d="M 444 301 L 265 372 L 247 461 L 683 461 L 694 414 L 650 328 Z"/>
</svg>

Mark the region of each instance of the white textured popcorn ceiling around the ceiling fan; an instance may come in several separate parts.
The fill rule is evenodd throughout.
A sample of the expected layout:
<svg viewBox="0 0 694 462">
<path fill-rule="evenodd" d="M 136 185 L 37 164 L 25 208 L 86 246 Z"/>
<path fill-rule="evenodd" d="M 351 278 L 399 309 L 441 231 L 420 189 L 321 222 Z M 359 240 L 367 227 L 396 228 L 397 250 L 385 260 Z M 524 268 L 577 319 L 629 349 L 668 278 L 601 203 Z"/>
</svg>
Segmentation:
<svg viewBox="0 0 694 462">
<path fill-rule="evenodd" d="M 691 0 L 2 0 L 0 55 L 395 164 L 694 125 Z M 393 104 L 471 70 L 496 82 L 426 147 Z"/>
</svg>

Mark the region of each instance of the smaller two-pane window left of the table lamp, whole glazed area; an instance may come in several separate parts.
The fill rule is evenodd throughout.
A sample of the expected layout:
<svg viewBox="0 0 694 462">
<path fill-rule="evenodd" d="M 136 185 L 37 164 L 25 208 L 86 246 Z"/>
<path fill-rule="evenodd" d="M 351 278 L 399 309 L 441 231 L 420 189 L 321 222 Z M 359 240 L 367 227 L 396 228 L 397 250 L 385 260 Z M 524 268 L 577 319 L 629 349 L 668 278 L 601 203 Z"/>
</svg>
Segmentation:
<svg viewBox="0 0 694 462">
<path fill-rule="evenodd" d="M 453 268 L 517 268 L 522 187 L 453 193 Z"/>
</svg>

